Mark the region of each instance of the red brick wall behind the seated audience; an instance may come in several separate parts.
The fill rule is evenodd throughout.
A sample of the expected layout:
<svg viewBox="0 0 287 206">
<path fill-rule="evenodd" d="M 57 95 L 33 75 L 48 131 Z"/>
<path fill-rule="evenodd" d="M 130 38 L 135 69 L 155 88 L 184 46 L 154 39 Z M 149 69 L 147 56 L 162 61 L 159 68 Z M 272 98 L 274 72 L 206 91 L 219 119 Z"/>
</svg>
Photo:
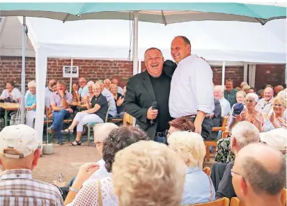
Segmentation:
<svg viewBox="0 0 287 206">
<path fill-rule="evenodd" d="M 49 58 L 48 59 L 48 79 L 63 79 L 70 84 L 70 78 L 63 78 L 63 66 L 69 66 L 69 59 Z M 91 59 L 75 59 L 73 65 L 79 66 L 79 77 L 86 77 L 88 80 L 117 78 L 119 85 L 127 83 L 127 79 L 132 76 L 132 61 L 107 61 Z M 262 82 L 276 85 L 284 82 L 285 65 L 257 65 L 256 85 Z M 141 63 L 141 69 L 145 70 L 145 65 Z M 0 56 L 0 92 L 4 88 L 5 81 L 15 80 L 16 86 L 21 88 L 22 57 Z M 222 68 L 215 67 L 213 70 L 214 84 L 222 82 Z M 270 71 L 268 73 L 267 71 Z M 265 72 L 265 73 L 264 73 Z M 264 73 L 264 75 L 261 75 Z M 243 81 L 243 67 L 226 68 L 226 79 L 233 79 L 234 86 L 240 86 Z M 35 58 L 26 58 L 26 84 L 35 79 Z M 73 83 L 77 78 L 73 78 Z"/>
</svg>

